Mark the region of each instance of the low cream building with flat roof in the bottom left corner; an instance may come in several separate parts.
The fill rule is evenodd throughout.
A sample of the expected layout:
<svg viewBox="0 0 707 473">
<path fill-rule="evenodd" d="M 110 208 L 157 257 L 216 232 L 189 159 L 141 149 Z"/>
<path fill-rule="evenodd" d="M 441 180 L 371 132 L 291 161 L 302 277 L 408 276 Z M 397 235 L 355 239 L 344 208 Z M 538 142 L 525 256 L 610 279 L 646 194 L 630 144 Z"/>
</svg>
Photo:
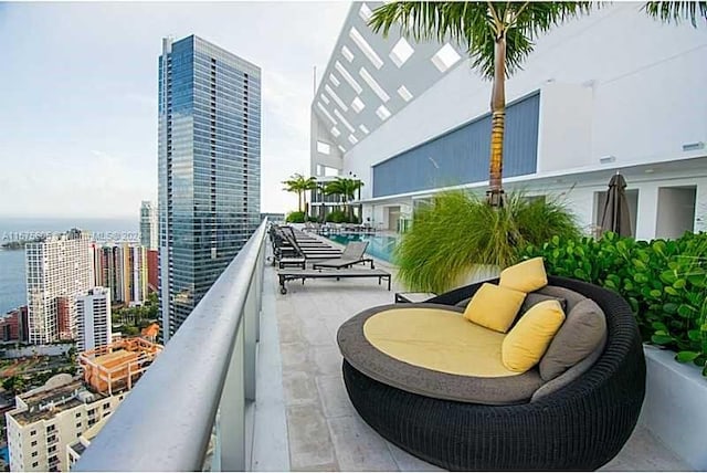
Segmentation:
<svg viewBox="0 0 707 473">
<path fill-rule="evenodd" d="M 6 413 L 11 472 L 68 471 L 67 445 L 109 416 L 127 392 L 93 392 L 70 375 L 15 398 Z"/>
</svg>

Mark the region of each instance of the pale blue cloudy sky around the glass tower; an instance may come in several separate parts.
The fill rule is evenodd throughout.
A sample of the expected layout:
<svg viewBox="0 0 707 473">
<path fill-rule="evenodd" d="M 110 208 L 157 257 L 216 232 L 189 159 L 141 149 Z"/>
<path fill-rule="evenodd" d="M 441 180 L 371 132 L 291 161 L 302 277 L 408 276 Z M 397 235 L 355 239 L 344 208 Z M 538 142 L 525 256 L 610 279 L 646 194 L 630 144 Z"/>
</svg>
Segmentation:
<svg viewBox="0 0 707 473">
<path fill-rule="evenodd" d="M 0 2 L 0 216 L 131 218 L 157 199 L 161 39 L 197 34 L 262 70 L 261 211 L 309 174 L 313 69 L 349 2 Z"/>
</svg>

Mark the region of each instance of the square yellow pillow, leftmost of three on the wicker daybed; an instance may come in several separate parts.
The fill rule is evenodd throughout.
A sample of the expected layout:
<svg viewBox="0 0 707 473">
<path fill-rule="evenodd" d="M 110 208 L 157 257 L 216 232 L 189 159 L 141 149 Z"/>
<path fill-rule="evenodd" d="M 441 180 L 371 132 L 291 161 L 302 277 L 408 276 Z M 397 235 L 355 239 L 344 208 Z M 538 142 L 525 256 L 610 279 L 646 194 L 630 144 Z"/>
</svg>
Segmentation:
<svg viewBox="0 0 707 473">
<path fill-rule="evenodd" d="M 484 283 L 466 306 L 464 317 L 482 327 L 505 334 L 516 319 L 525 298 L 524 292 Z"/>
</svg>

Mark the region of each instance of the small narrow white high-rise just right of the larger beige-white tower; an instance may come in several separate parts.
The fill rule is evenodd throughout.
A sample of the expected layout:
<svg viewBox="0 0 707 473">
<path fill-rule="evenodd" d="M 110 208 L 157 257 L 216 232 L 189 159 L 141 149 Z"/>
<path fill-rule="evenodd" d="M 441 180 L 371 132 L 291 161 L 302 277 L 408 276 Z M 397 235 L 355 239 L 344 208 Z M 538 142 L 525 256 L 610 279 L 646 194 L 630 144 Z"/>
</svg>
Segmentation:
<svg viewBox="0 0 707 473">
<path fill-rule="evenodd" d="M 113 341 L 110 329 L 110 290 L 94 287 L 76 297 L 76 323 L 78 351 L 109 345 Z"/>
</svg>

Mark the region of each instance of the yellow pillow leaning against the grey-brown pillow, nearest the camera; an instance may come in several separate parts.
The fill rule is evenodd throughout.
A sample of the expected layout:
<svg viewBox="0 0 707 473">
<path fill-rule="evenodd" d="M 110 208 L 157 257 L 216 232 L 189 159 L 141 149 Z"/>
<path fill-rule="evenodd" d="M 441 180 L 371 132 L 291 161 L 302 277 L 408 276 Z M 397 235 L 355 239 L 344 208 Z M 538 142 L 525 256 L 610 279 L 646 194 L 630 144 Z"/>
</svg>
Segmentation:
<svg viewBox="0 0 707 473">
<path fill-rule="evenodd" d="M 506 335 L 502 347 L 504 366 L 526 372 L 540 361 L 552 337 L 564 322 L 564 312 L 557 301 L 545 301 L 526 312 Z"/>
</svg>

